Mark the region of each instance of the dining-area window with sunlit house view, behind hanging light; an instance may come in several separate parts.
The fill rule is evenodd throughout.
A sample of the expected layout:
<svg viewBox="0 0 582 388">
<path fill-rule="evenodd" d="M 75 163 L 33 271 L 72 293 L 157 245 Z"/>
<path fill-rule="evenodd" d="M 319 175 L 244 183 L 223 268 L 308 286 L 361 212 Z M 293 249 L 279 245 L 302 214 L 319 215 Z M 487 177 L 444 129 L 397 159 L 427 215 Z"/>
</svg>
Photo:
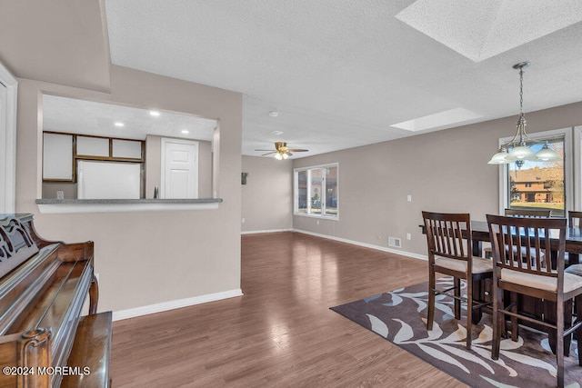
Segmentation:
<svg viewBox="0 0 582 388">
<path fill-rule="evenodd" d="M 534 153 L 547 142 L 562 159 L 557 162 L 525 162 L 521 168 L 515 163 L 502 165 L 502 198 L 499 214 L 505 208 L 550 210 L 553 217 L 564 217 L 573 208 L 572 174 L 567 168 L 571 158 L 569 151 L 572 132 L 569 128 L 530 135 L 536 139 L 532 144 Z M 501 139 L 500 143 L 504 143 Z M 510 150 L 509 150 L 510 151 Z"/>
</svg>

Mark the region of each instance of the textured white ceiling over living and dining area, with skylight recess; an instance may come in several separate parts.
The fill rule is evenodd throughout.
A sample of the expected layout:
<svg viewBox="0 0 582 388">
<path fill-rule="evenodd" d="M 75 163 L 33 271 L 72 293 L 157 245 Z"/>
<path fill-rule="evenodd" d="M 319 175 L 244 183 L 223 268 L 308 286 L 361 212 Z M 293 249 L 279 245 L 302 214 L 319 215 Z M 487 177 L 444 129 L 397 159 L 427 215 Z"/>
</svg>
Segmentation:
<svg viewBox="0 0 582 388">
<path fill-rule="evenodd" d="M 303 157 L 517 116 L 512 66 L 523 61 L 532 63 L 526 112 L 582 100 L 578 0 L 105 0 L 105 8 L 113 64 L 243 93 L 247 155 L 286 141 L 308 148 L 294 156 Z M 461 121 L 443 124 L 447 111 Z M 428 129 L 391 126 L 416 118 Z"/>
</svg>

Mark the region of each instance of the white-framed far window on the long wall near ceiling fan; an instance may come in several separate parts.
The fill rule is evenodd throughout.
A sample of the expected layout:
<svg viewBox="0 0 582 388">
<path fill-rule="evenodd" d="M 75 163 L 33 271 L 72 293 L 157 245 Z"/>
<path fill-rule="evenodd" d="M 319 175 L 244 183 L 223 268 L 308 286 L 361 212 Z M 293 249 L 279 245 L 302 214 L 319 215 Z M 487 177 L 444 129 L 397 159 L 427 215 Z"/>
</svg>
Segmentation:
<svg viewBox="0 0 582 388">
<path fill-rule="evenodd" d="M 337 218 L 338 165 L 296 168 L 294 172 L 294 213 Z"/>
</svg>

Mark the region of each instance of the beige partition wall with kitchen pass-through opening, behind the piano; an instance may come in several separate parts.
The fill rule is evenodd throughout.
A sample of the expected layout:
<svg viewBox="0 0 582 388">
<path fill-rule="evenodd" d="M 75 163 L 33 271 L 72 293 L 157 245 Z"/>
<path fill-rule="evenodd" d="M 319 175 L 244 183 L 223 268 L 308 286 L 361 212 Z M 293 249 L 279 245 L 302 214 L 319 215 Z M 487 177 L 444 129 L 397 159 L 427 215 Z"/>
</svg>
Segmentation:
<svg viewBox="0 0 582 388">
<path fill-rule="evenodd" d="M 19 79 L 16 212 L 39 234 L 95 242 L 99 311 L 240 290 L 242 95 L 125 67 L 111 68 L 112 93 Z M 39 214 L 41 93 L 196 114 L 220 120 L 217 210 Z"/>
</svg>

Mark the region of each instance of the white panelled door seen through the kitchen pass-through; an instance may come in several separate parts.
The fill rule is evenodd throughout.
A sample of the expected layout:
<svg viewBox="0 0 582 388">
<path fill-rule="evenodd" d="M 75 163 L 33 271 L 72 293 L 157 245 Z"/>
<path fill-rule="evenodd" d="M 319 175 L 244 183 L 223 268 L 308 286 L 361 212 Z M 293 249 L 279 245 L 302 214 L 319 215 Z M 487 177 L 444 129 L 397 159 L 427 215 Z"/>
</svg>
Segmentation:
<svg viewBox="0 0 582 388">
<path fill-rule="evenodd" d="M 198 143 L 162 139 L 162 198 L 198 198 Z"/>
</svg>

